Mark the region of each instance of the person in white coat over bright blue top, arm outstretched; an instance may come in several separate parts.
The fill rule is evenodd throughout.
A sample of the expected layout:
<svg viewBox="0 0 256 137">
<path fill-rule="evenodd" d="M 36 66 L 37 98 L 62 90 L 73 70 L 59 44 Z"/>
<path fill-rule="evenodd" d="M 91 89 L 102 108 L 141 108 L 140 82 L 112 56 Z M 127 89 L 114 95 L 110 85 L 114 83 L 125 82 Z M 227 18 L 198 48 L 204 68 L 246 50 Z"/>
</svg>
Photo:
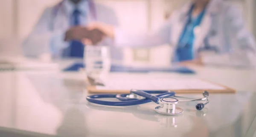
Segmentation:
<svg viewBox="0 0 256 137">
<path fill-rule="evenodd" d="M 173 46 L 172 62 L 254 66 L 256 44 L 238 9 L 223 0 L 192 0 L 175 11 L 153 34 L 129 35 L 121 28 L 94 22 L 116 46 Z M 157 55 L 156 55 L 157 56 Z"/>
</svg>

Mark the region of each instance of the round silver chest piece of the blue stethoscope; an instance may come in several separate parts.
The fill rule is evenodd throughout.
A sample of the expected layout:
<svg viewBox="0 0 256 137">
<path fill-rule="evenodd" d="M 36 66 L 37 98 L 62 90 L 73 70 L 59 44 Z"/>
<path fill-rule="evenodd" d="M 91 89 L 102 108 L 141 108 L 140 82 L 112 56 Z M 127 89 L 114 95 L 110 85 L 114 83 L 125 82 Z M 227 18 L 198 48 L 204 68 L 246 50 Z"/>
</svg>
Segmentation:
<svg viewBox="0 0 256 137">
<path fill-rule="evenodd" d="M 156 112 L 164 115 L 183 114 L 183 109 L 176 107 L 176 104 L 179 102 L 176 98 L 161 98 L 160 101 L 163 106 L 157 106 L 155 108 Z"/>
</svg>

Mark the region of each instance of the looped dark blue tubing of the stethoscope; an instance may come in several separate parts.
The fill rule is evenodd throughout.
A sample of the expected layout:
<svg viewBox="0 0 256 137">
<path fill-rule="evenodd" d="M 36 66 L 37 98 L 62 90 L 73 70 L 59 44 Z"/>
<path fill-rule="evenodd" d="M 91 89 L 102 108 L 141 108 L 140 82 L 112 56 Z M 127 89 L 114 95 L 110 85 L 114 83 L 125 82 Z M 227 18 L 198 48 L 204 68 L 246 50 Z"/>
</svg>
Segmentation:
<svg viewBox="0 0 256 137">
<path fill-rule="evenodd" d="M 138 92 L 139 91 L 139 92 Z M 135 91 L 134 91 L 135 92 Z M 132 93 L 132 91 L 131 91 Z M 136 98 L 130 98 L 128 100 L 124 100 L 125 96 L 128 94 L 98 94 L 98 95 L 89 95 L 87 96 L 86 100 L 91 102 L 91 103 L 96 103 L 96 104 L 100 104 L 100 105 L 106 105 L 106 106 L 134 106 L 134 105 L 140 105 L 143 103 L 148 103 L 151 101 L 154 101 L 155 103 L 160 99 L 160 98 L 166 98 L 166 97 L 171 97 L 175 95 L 175 92 L 169 92 L 169 91 L 140 91 L 137 90 L 136 94 L 140 94 L 143 93 L 145 96 L 145 93 L 147 94 L 159 94 L 156 96 L 153 96 L 154 98 L 148 99 L 148 98 L 144 98 L 144 99 L 136 99 Z M 146 95 L 147 95 L 146 94 Z M 102 100 L 98 100 L 96 98 L 118 98 L 121 101 L 102 101 Z"/>
</svg>

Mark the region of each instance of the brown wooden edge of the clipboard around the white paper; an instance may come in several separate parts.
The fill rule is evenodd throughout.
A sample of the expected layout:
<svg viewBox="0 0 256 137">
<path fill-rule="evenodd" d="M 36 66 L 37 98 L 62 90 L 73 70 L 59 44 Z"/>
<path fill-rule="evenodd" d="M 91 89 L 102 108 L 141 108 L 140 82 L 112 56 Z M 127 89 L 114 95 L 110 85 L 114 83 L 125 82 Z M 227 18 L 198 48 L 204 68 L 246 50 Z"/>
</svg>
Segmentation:
<svg viewBox="0 0 256 137">
<path fill-rule="evenodd" d="M 205 80 L 205 79 L 202 79 L 202 78 L 200 78 L 200 79 L 202 81 L 207 81 L 209 83 L 212 83 L 212 84 L 224 87 L 225 89 L 221 89 L 221 90 L 212 90 L 212 89 L 179 89 L 179 90 L 171 90 L 171 91 L 174 91 L 177 94 L 194 94 L 194 93 L 202 93 L 204 91 L 208 91 L 209 93 L 218 93 L 218 94 L 220 94 L 220 93 L 236 93 L 236 90 L 235 89 L 231 89 L 230 87 L 227 87 L 227 86 L 224 86 L 224 85 L 221 85 L 221 84 L 217 84 L 217 83 L 214 83 L 212 81 Z M 99 89 L 96 89 L 95 85 L 88 86 L 86 89 L 87 89 L 88 93 L 95 93 L 95 94 L 98 94 L 98 93 L 129 94 L 130 93 L 130 90 L 99 90 Z M 166 90 L 170 90 L 170 89 L 166 89 Z"/>
</svg>

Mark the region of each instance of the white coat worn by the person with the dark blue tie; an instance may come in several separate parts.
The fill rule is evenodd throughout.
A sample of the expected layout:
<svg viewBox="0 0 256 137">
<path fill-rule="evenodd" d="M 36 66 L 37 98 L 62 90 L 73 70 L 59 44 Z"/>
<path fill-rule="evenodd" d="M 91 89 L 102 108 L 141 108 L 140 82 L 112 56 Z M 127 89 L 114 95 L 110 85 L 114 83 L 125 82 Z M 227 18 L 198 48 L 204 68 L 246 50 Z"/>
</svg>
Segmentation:
<svg viewBox="0 0 256 137">
<path fill-rule="evenodd" d="M 105 22 L 114 26 L 118 20 L 114 11 L 99 3 L 94 3 L 95 11 L 91 11 L 87 0 L 79 4 L 78 8 L 86 15 L 80 17 L 81 25 L 86 26 L 90 22 Z M 69 0 L 63 0 L 55 6 L 46 8 L 29 36 L 23 41 L 23 53 L 25 56 L 38 57 L 50 53 L 52 57 L 62 57 L 64 49 L 70 46 L 70 42 L 64 42 L 65 32 L 70 28 L 70 16 L 74 6 Z M 58 10 L 56 10 L 58 9 Z M 96 14 L 96 17 L 93 16 Z M 113 40 L 105 39 L 99 45 L 113 45 Z M 111 46 L 113 59 L 122 59 L 122 50 Z"/>
</svg>

